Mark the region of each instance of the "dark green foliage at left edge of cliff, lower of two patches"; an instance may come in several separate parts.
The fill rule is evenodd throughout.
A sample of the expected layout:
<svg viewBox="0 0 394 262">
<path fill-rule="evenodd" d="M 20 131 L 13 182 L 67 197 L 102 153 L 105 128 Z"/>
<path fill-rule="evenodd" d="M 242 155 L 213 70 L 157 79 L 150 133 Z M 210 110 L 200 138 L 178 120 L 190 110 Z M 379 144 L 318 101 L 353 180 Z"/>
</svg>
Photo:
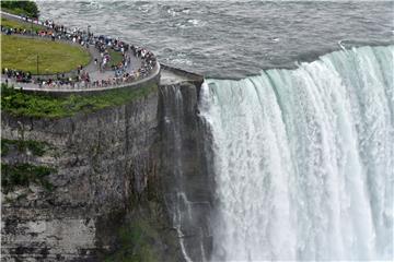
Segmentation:
<svg viewBox="0 0 394 262">
<path fill-rule="evenodd" d="M 36 183 L 51 191 L 54 186 L 47 180 L 47 176 L 56 170 L 46 166 L 31 164 L 1 164 L 1 189 L 4 193 L 15 187 L 28 187 Z"/>
</svg>

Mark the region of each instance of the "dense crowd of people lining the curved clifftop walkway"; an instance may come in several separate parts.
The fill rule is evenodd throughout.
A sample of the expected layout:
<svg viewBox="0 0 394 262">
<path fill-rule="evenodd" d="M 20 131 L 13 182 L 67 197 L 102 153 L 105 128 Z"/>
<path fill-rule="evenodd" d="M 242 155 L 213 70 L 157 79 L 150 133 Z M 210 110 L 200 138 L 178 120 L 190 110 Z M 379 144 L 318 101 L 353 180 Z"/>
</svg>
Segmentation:
<svg viewBox="0 0 394 262">
<path fill-rule="evenodd" d="M 100 53 L 100 57 L 94 58 L 94 64 L 96 64 L 96 70 L 101 73 L 104 73 L 108 70 L 114 72 L 113 78 L 106 78 L 104 74 L 100 79 L 92 79 L 88 72 L 82 70 L 80 66 L 73 75 L 70 76 L 59 76 L 54 78 L 39 78 L 39 75 L 33 76 L 30 72 L 22 72 L 18 70 L 7 69 L 7 73 L 2 72 L 8 79 L 14 79 L 16 82 L 22 83 L 35 83 L 39 86 L 48 87 L 105 87 L 113 85 L 120 85 L 123 83 L 130 83 L 132 81 L 147 78 L 150 75 L 151 71 L 157 64 L 157 58 L 154 55 L 142 47 L 137 47 L 134 45 L 126 44 L 123 40 L 111 38 L 104 35 L 95 36 L 93 33 L 82 31 L 80 28 L 73 27 L 68 28 L 63 25 L 56 24 L 51 20 L 46 20 L 44 22 L 31 21 L 27 17 L 22 17 L 25 22 L 32 24 L 42 25 L 42 28 L 26 29 L 26 28 L 11 28 L 8 26 L 1 25 L 2 34 L 21 34 L 21 35 L 34 35 L 39 37 L 51 38 L 51 40 L 65 40 L 73 44 L 79 44 L 85 48 L 91 46 L 96 49 L 96 52 Z M 118 63 L 112 62 L 113 58 L 111 51 L 121 53 L 121 61 Z M 135 71 L 131 71 L 131 53 L 137 58 L 140 58 L 140 67 Z M 4 70 L 3 70 L 4 71 Z"/>
</svg>

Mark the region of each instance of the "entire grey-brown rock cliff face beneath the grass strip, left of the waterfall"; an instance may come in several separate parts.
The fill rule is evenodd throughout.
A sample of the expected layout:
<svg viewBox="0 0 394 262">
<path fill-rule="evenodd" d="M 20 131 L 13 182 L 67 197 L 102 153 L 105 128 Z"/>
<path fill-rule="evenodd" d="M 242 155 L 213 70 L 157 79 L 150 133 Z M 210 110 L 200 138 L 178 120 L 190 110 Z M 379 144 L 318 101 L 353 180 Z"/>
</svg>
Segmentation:
<svg viewBox="0 0 394 262">
<path fill-rule="evenodd" d="M 12 147 L 2 162 L 54 171 L 49 188 L 34 180 L 2 190 L 2 261 L 209 257 L 198 88 L 160 86 L 128 105 L 65 119 L 3 114 L 2 139 L 47 144 L 40 156 Z"/>
</svg>

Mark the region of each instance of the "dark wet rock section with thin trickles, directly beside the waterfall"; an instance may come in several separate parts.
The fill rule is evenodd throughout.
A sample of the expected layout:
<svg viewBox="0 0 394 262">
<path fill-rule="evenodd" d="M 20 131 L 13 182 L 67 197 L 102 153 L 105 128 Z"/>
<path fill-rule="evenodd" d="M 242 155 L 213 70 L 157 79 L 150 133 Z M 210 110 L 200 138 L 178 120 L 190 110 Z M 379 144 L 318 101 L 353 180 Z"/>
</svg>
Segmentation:
<svg viewBox="0 0 394 262">
<path fill-rule="evenodd" d="M 212 178 L 206 127 L 198 116 L 198 91 L 189 83 L 170 85 L 160 99 L 161 171 L 164 200 L 186 261 L 206 261 L 211 250 L 209 214 Z"/>
</svg>

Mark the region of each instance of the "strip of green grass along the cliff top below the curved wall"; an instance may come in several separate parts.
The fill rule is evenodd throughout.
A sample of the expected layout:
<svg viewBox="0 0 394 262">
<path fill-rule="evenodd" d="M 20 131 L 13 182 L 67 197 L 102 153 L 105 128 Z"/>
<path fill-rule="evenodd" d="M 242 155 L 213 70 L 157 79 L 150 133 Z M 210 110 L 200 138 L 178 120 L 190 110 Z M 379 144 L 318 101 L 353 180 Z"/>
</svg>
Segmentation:
<svg viewBox="0 0 394 262">
<path fill-rule="evenodd" d="M 23 91 L 7 87 L 2 84 L 1 107 L 3 111 L 13 116 L 63 118 L 78 112 L 92 112 L 112 106 L 124 105 L 147 97 L 157 90 L 158 86 L 152 84 L 136 90 L 111 90 L 92 96 L 50 97 L 42 94 L 26 94 Z"/>
</svg>

